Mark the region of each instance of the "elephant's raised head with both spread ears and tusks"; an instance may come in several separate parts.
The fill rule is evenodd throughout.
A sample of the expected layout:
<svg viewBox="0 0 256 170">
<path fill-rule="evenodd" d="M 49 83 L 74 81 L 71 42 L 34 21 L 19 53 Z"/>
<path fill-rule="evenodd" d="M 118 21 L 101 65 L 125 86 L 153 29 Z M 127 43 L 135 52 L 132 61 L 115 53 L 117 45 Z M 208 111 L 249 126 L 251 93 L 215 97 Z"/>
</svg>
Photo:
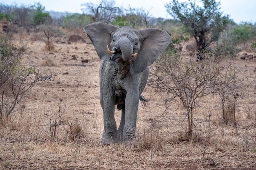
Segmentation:
<svg viewBox="0 0 256 170">
<path fill-rule="evenodd" d="M 128 26 L 118 28 L 106 23 L 85 26 L 101 60 L 130 64 L 130 73 L 137 74 L 164 53 L 171 36 L 161 29 L 135 30 Z"/>
</svg>

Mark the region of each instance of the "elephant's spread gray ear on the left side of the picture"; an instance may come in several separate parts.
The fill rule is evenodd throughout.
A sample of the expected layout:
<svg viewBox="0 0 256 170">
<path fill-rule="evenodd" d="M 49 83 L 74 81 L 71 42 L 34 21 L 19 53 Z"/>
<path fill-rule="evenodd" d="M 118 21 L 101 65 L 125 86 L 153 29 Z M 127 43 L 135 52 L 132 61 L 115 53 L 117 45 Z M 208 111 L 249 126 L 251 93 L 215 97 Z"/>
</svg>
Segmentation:
<svg viewBox="0 0 256 170">
<path fill-rule="evenodd" d="M 117 29 L 118 27 L 116 26 L 101 22 L 96 22 L 83 27 L 83 32 L 87 33 L 101 60 L 110 59 L 111 55 L 107 52 L 106 46 L 110 46 L 111 33 Z"/>
</svg>

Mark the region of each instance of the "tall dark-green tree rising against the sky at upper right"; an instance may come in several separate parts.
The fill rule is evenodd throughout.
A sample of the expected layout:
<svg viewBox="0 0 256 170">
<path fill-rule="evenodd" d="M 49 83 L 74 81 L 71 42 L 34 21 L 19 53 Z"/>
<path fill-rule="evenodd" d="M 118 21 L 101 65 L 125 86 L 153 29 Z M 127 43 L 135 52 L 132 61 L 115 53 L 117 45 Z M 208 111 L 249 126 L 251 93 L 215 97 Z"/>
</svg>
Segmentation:
<svg viewBox="0 0 256 170">
<path fill-rule="evenodd" d="M 216 0 L 195 0 L 178 2 L 172 0 L 165 4 L 166 11 L 173 17 L 178 18 L 186 28 L 186 32 L 195 38 L 197 44 L 197 60 L 204 58 L 205 49 L 216 42 L 220 33 L 229 23 L 229 15 L 222 16 L 220 2 Z"/>
</svg>

